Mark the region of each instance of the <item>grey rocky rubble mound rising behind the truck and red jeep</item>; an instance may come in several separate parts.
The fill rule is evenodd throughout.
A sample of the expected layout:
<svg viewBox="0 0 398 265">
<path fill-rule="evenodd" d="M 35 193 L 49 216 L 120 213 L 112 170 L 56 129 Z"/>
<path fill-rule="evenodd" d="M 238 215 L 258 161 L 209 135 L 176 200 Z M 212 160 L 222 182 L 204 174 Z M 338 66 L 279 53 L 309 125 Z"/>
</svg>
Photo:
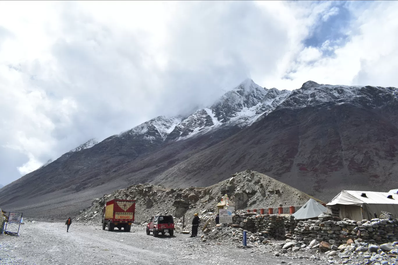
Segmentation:
<svg viewBox="0 0 398 265">
<path fill-rule="evenodd" d="M 170 214 L 176 218 L 178 226 L 183 215 L 186 217 L 185 224 L 190 224 L 193 213 L 199 213 L 204 223 L 217 211 L 215 205 L 225 194 L 235 203 L 236 210 L 304 205 L 311 198 L 285 183 L 248 169 L 209 187 L 169 189 L 152 184 L 132 185 L 94 199 L 92 206 L 82 210 L 75 220 L 100 222 L 107 201 L 135 199 L 137 222 L 148 222 L 156 214 Z"/>
</svg>

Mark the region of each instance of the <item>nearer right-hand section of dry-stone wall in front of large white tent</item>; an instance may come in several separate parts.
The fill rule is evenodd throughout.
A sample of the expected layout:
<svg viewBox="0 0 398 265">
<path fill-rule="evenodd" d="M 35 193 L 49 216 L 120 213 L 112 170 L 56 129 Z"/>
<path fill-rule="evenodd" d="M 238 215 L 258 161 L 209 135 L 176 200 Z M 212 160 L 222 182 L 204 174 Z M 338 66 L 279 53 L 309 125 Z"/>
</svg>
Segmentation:
<svg viewBox="0 0 398 265">
<path fill-rule="evenodd" d="M 341 245 L 351 238 L 383 244 L 396 241 L 397 235 L 397 219 L 353 221 L 321 214 L 318 220 L 299 221 L 290 238 L 302 243 L 316 240 Z"/>
</svg>

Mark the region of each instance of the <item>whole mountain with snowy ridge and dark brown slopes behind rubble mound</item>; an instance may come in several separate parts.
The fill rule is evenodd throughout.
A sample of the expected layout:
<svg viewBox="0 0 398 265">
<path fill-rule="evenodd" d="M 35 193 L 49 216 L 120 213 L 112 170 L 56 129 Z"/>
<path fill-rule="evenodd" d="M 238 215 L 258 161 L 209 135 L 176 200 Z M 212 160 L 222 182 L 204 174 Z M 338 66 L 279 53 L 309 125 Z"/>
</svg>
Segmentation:
<svg viewBox="0 0 398 265">
<path fill-rule="evenodd" d="M 245 168 L 324 201 L 342 189 L 390 190 L 398 169 L 397 97 L 393 87 L 308 81 L 279 91 L 245 80 L 188 117 L 160 116 L 61 156 L 2 189 L 0 206 L 53 209 L 64 196 L 76 211 L 88 194 L 146 182 L 208 186 Z"/>
</svg>

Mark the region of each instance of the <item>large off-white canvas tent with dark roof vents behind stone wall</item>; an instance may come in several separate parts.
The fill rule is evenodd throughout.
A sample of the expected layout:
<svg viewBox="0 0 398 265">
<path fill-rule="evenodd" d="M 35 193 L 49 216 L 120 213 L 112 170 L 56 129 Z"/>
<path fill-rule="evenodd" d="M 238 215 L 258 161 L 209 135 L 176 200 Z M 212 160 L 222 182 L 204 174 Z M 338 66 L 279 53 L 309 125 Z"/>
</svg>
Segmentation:
<svg viewBox="0 0 398 265">
<path fill-rule="evenodd" d="M 376 191 L 342 190 L 326 204 L 328 212 L 355 221 L 375 218 L 381 211 L 398 217 L 398 194 Z"/>
</svg>

